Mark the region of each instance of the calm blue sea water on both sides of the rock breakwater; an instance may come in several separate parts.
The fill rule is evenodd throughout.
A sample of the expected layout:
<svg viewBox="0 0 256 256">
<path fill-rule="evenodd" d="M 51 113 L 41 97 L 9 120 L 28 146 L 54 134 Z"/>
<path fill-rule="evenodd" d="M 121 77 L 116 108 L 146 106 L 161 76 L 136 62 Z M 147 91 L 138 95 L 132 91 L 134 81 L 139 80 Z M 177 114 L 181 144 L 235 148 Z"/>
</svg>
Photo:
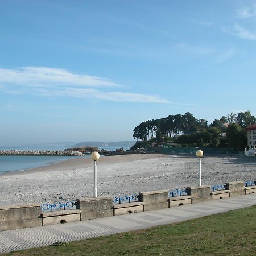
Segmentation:
<svg viewBox="0 0 256 256">
<path fill-rule="evenodd" d="M 117 147 L 104 147 L 105 150 L 115 151 Z M 129 150 L 129 146 L 123 147 Z M 64 150 L 65 147 L 35 146 L 35 147 L 0 147 L 0 150 Z M 103 156 L 104 157 L 104 156 Z M 14 171 L 24 171 L 36 167 L 48 166 L 75 158 L 90 158 L 84 156 L 37 156 L 37 155 L 0 155 L 0 174 Z"/>
</svg>

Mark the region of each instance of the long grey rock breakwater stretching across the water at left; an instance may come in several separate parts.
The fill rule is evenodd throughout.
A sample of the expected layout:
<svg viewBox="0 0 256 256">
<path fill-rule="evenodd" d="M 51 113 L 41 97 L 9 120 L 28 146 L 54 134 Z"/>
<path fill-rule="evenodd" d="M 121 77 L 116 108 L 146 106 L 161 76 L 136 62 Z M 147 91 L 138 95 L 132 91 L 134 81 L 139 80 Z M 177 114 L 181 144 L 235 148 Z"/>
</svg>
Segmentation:
<svg viewBox="0 0 256 256">
<path fill-rule="evenodd" d="M 0 155 L 57 155 L 57 156 L 83 156 L 79 151 L 72 150 L 0 150 Z"/>
</svg>

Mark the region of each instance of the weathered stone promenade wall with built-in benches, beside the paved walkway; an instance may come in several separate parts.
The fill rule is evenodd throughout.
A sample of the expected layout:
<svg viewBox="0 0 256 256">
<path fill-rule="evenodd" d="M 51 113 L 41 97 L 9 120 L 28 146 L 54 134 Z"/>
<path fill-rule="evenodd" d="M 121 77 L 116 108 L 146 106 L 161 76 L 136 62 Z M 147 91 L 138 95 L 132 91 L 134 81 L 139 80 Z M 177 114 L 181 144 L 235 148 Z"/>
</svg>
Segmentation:
<svg viewBox="0 0 256 256">
<path fill-rule="evenodd" d="M 254 184 L 254 183 L 253 183 Z M 168 197 L 168 191 L 139 192 L 138 202 L 113 204 L 112 197 L 77 199 L 76 209 L 41 210 L 41 204 L 9 205 L 0 207 L 0 230 L 30 228 L 72 221 L 89 220 L 137 213 L 147 210 L 178 207 L 207 200 L 220 200 L 224 197 L 245 195 L 256 192 L 256 186 L 245 187 L 245 181 L 225 184 L 225 189 L 212 191 L 210 185 L 188 187 L 183 196 Z"/>
</svg>

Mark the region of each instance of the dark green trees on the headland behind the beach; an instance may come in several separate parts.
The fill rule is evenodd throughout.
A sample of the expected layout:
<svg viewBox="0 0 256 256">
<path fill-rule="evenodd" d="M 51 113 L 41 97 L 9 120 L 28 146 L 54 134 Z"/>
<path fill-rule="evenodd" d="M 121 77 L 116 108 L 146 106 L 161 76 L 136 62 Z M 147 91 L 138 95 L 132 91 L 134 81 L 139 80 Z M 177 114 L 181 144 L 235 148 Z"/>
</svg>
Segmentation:
<svg viewBox="0 0 256 256">
<path fill-rule="evenodd" d="M 248 110 L 222 116 L 208 126 L 206 119 L 196 119 L 191 113 L 168 115 L 166 118 L 140 123 L 133 131 L 137 140 L 134 148 L 151 142 L 175 142 L 183 147 L 232 147 L 243 150 L 247 146 L 246 126 L 256 118 Z"/>
</svg>

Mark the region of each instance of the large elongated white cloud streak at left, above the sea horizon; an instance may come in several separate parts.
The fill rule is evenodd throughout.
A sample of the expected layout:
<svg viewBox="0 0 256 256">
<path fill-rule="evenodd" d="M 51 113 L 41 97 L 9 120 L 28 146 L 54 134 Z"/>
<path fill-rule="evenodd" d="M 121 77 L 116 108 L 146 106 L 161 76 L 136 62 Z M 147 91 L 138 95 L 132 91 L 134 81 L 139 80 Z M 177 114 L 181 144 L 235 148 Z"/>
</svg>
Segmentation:
<svg viewBox="0 0 256 256">
<path fill-rule="evenodd" d="M 117 91 L 117 89 L 125 89 L 125 86 L 118 85 L 109 79 L 48 67 L 0 68 L 0 85 L 0 92 L 7 94 L 97 98 L 119 102 L 173 103 L 158 95 Z"/>
</svg>

